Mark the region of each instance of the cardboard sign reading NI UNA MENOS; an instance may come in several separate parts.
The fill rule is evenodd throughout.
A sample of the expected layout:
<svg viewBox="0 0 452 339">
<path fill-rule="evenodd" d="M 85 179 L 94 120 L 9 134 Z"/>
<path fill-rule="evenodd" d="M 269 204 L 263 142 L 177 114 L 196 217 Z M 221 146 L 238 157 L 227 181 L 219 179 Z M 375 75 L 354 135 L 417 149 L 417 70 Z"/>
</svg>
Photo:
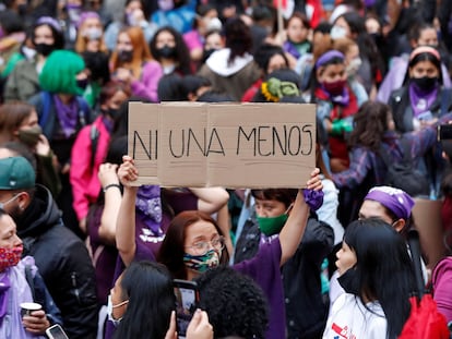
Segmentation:
<svg viewBox="0 0 452 339">
<path fill-rule="evenodd" d="M 316 167 L 316 106 L 129 104 L 136 184 L 302 187 Z"/>
</svg>

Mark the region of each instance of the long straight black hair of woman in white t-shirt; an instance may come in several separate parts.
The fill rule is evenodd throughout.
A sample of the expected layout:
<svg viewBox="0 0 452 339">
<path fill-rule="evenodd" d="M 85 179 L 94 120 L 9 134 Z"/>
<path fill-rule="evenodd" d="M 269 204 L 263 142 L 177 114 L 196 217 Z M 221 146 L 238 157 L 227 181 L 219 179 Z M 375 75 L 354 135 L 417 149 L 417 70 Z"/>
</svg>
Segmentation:
<svg viewBox="0 0 452 339">
<path fill-rule="evenodd" d="M 345 230 L 344 242 L 355 252 L 354 278 L 359 298 L 379 301 L 388 322 L 388 338 L 396 338 L 409 317 L 414 273 L 406 243 L 378 218 L 357 220 Z"/>
</svg>

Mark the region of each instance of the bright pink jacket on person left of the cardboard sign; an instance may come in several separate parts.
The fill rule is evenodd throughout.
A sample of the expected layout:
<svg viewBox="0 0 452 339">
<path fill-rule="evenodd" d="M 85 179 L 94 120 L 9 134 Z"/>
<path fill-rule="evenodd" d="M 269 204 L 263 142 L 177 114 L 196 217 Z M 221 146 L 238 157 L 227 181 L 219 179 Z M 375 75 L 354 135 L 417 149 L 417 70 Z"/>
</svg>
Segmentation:
<svg viewBox="0 0 452 339">
<path fill-rule="evenodd" d="M 91 168 L 92 158 L 92 125 L 98 131 L 94 169 Z M 90 205 L 97 199 L 100 182 L 97 178 L 100 164 L 104 162 L 110 142 L 110 133 L 105 128 L 103 117 L 99 116 L 92 124 L 84 126 L 76 136 L 72 147 L 70 181 L 72 185 L 72 206 L 79 220 L 86 217 Z"/>
</svg>

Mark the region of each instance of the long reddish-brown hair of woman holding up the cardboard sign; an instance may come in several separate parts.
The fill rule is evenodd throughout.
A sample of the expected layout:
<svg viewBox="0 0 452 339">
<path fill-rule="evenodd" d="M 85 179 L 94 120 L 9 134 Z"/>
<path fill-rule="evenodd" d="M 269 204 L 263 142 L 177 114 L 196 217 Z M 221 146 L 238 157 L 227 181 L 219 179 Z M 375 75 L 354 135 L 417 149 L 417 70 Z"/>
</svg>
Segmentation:
<svg viewBox="0 0 452 339">
<path fill-rule="evenodd" d="M 166 231 L 165 240 L 158 252 L 157 261 L 165 265 L 171 273 L 173 278 L 187 279 L 187 269 L 183 263 L 186 229 L 197 221 L 212 223 L 219 235 L 224 235 L 218 225 L 210 215 L 201 210 L 185 210 L 179 213 Z M 229 263 L 229 253 L 223 249 L 221 265 Z"/>
</svg>

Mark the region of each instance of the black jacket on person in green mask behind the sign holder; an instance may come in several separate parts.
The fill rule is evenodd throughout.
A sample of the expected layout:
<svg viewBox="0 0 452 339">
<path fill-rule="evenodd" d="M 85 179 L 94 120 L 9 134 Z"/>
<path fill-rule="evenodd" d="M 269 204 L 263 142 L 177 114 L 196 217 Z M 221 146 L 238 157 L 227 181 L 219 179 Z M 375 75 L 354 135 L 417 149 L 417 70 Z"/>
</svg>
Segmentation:
<svg viewBox="0 0 452 339">
<path fill-rule="evenodd" d="M 236 245 L 235 263 L 253 257 L 260 239 L 258 222 L 253 218 L 247 220 Z M 329 302 L 321 294 L 320 273 L 333 242 L 333 229 L 313 215 L 308 219 L 297 252 L 282 267 L 288 339 L 322 336 Z"/>
</svg>

